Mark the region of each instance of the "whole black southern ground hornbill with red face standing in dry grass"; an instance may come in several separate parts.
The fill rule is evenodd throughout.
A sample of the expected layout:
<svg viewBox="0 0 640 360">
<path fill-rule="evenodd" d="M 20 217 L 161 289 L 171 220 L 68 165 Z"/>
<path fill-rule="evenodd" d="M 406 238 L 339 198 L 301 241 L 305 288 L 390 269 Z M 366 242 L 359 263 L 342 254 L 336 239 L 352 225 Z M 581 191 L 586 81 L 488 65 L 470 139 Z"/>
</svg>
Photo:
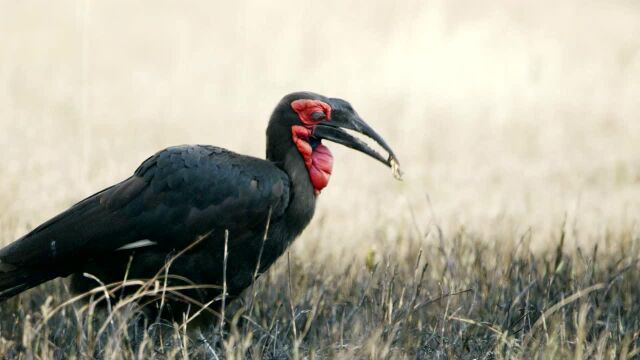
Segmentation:
<svg viewBox="0 0 640 360">
<path fill-rule="evenodd" d="M 343 129 L 372 138 L 388 157 Z M 311 220 L 332 170 L 323 139 L 361 151 L 399 176 L 393 151 L 348 102 L 292 93 L 271 115 L 266 160 L 207 145 L 161 150 L 130 178 L 1 249 L 0 300 L 69 275 L 72 288 L 83 292 L 99 285 L 96 278 L 115 284 L 164 273 L 183 291 L 164 292 L 162 316 L 175 319 L 187 303 L 215 309 L 222 285 L 228 299 L 237 297 Z M 126 289 L 111 295 L 136 291 Z"/>
</svg>

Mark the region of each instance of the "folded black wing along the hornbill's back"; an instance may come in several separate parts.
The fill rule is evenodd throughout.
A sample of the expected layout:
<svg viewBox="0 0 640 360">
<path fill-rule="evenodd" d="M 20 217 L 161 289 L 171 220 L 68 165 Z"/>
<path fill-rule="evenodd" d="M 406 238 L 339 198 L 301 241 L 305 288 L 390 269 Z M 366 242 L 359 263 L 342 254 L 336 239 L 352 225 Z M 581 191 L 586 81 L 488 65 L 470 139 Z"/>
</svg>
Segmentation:
<svg viewBox="0 0 640 360">
<path fill-rule="evenodd" d="M 167 148 L 134 175 L 72 206 L 0 249 L 6 268 L 65 262 L 65 269 L 143 239 L 180 246 L 214 228 L 281 216 L 289 179 L 272 163 L 212 146 Z M 2 267 L 0 267 L 0 272 Z"/>
</svg>

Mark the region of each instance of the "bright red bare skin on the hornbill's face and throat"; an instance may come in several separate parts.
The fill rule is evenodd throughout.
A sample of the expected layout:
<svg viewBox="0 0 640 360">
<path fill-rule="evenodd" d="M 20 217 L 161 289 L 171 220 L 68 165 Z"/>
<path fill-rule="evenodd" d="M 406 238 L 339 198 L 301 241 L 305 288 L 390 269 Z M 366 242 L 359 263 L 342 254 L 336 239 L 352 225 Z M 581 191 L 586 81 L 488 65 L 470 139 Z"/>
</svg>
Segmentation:
<svg viewBox="0 0 640 360">
<path fill-rule="evenodd" d="M 304 124 L 291 127 L 293 143 L 304 159 L 304 164 L 309 172 L 309 179 L 311 179 L 311 184 L 317 196 L 329 183 L 329 177 L 333 169 L 333 155 L 331 155 L 329 148 L 323 144 L 318 144 L 313 149 L 309 144 L 309 137 L 318 123 L 331 120 L 331 107 L 325 102 L 310 99 L 296 100 L 291 103 L 291 107 Z M 313 114 L 318 112 L 324 114 L 323 119 L 315 120 Z"/>
</svg>

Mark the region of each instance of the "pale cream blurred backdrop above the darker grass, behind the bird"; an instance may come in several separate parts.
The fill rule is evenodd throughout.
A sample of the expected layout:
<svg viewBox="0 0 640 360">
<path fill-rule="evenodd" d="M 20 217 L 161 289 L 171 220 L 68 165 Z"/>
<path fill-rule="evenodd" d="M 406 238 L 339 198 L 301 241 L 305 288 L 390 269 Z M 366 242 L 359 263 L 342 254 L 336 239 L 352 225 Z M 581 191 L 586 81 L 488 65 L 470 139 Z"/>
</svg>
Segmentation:
<svg viewBox="0 0 640 360">
<path fill-rule="evenodd" d="M 331 146 L 334 175 L 298 251 L 428 242 L 434 226 L 487 241 L 531 229 L 539 246 L 564 223 L 575 243 L 637 229 L 638 1 L 0 9 L 0 243 L 167 146 L 263 157 L 273 107 L 298 90 L 349 100 L 405 172 L 396 182 Z"/>
</svg>

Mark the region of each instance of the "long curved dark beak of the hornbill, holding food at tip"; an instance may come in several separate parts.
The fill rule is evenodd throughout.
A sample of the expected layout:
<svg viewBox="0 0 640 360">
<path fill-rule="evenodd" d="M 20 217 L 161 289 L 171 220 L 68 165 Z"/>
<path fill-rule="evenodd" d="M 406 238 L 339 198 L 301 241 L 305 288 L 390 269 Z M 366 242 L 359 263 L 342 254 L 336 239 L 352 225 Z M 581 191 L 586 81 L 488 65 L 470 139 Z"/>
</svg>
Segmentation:
<svg viewBox="0 0 640 360">
<path fill-rule="evenodd" d="M 349 129 L 359 132 L 378 143 L 385 151 L 388 152 L 388 156 L 385 158 L 377 151 L 373 150 L 369 145 L 363 141 L 351 136 L 348 132 L 342 129 Z M 363 152 L 372 158 L 380 161 L 381 163 L 389 166 L 393 170 L 393 175 L 400 179 L 400 163 L 398 158 L 391 150 L 391 147 L 384 139 L 378 135 L 364 120 L 358 115 L 350 116 L 347 120 L 333 118 L 330 121 L 322 122 L 315 126 L 312 136 L 317 139 L 326 139 L 338 144 L 350 147 L 352 149 Z"/>
</svg>

